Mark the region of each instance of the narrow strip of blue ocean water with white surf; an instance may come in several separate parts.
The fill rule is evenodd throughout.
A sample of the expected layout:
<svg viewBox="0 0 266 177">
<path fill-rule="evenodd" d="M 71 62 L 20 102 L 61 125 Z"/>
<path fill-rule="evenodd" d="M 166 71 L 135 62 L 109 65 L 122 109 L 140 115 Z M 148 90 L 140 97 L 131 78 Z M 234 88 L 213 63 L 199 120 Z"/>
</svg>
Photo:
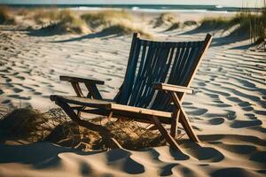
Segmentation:
<svg viewBox="0 0 266 177">
<path fill-rule="evenodd" d="M 163 5 L 163 4 L 10 4 L 12 7 L 58 7 L 58 8 L 71 8 L 73 10 L 82 11 L 95 11 L 105 8 L 112 9 L 127 9 L 136 12 L 195 12 L 195 13 L 207 13 L 207 12 L 239 12 L 243 8 L 228 7 L 222 5 Z M 244 8 L 249 11 L 255 10 L 255 8 Z"/>
</svg>

